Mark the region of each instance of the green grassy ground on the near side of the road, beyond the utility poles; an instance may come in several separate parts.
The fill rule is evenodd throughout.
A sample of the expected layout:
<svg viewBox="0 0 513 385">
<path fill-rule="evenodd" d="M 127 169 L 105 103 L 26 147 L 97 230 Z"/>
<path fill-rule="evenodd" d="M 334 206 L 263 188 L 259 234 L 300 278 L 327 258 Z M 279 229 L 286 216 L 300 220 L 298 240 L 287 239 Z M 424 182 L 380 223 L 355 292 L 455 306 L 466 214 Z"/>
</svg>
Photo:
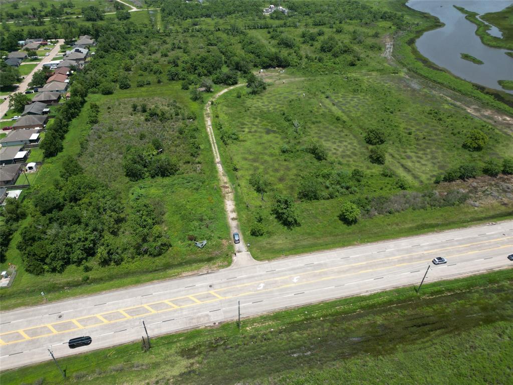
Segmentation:
<svg viewBox="0 0 513 385">
<path fill-rule="evenodd" d="M 509 383 L 511 269 L 57 358 L 3 383 Z M 150 331 L 151 333 L 151 331 Z"/>
</svg>

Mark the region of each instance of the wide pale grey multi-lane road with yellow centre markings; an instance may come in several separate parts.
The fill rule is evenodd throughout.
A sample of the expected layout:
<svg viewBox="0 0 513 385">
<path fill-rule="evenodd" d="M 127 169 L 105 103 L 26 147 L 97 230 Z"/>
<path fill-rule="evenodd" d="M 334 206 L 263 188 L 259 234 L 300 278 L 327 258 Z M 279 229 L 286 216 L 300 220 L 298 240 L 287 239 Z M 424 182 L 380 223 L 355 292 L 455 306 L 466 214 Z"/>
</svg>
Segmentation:
<svg viewBox="0 0 513 385">
<path fill-rule="evenodd" d="M 513 267 L 513 221 L 311 253 L 4 312 L 2 370 L 150 335 L 388 288 Z M 447 264 L 432 265 L 442 256 Z M 413 290 L 413 288 L 412 288 Z M 91 336 L 69 349 L 73 337 Z"/>
</svg>

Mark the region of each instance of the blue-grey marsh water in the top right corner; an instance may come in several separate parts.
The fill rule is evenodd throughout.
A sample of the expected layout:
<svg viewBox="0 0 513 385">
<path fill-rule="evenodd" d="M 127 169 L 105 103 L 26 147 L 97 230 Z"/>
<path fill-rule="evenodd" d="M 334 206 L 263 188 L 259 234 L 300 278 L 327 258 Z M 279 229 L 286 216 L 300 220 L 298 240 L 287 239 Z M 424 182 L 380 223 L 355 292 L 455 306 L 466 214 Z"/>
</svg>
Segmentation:
<svg viewBox="0 0 513 385">
<path fill-rule="evenodd" d="M 408 7 L 430 13 L 445 24 L 418 38 L 417 49 L 431 62 L 460 78 L 513 94 L 513 91 L 505 90 L 497 83 L 499 80 L 513 80 L 513 58 L 505 54 L 505 49 L 485 46 L 476 35 L 477 26 L 453 7 L 456 5 L 483 15 L 500 11 L 511 4 L 513 0 L 410 0 Z M 501 35 L 496 27 L 488 30 L 488 33 Z M 461 59 L 461 53 L 477 57 L 484 64 Z"/>
</svg>

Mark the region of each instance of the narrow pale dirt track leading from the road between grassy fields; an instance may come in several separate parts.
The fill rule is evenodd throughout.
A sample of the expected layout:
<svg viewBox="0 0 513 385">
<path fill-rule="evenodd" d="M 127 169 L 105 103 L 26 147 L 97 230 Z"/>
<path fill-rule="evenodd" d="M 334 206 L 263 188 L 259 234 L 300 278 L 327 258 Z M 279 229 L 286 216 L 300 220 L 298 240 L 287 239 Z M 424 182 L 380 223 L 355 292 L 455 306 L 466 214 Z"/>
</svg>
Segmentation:
<svg viewBox="0 0 513 385">
<path fill-rule="evenodd" d="M 212 146 L 215 165 L 218 168 L 219 182 L 221 185 L 221 190 L 223 191 L 226 216 L 228 218 L 228 225 L 230 226 L 230 234 L 239 233 L 239 236 L 241 237 L 241 243 L 234 244 L 235 255 L 233 256 L 231 267 L 248 266 L 256 264 L 258 262 L 255 261 L 253 257 L 251 257 L 251 254 L 249 253 L 246 247 L 246 243 L 244 243 L 244 237 L 242 236 L 241 227 L 239 225 L 239 218 L 237 217 L 237 212 L 235 210 L 233 187 L 230 184 L 228 176 L 226 175 L 226 172 L 223 168 L 223 164 L 221 163 L 221 157 L 219 156 L 218 145 L 215 142 L 214 131 L 212 129 L 212 112 L 210 110 L 210 106 L 212 105 L 212 101 L 218 99 L 223 93 L 243 85 L 244 84 L 237 84 L 235 86 L 225 88 L 224 90 L 216 93 L 212 100 L 208 101 L 207 105 L 205 106 L 204 112 L 205 127 L 207 128 L 208 139 L 210 140 L 210 145 Z"/>
</svg>

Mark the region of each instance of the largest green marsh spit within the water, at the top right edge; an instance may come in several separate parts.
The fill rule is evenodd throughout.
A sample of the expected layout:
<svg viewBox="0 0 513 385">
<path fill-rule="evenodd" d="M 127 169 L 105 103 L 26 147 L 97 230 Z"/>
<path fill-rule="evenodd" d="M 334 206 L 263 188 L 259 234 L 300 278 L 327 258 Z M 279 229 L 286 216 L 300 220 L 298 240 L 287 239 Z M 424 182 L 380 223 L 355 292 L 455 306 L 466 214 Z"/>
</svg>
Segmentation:
<svg viewBox="0 0 513 385">
<path fill-rule="evenodd" d="M 478 26 L 476 35 L 481 38 L 483 44 L 490 47 L 513 49 L 513 5 L 499 12 L 491 12 L 482 15 L 481 18 L 486 23 L 476 17 L 479 16 L 479 13 L 468 11 L 463 7 L 453 7 L 464 13 L 468 21 Z M 502 32 L 502 38 L 490 35 L 487 32 L 490 29 L 490 25 L 487 23 L 499 28 Z"/>
</svg>

